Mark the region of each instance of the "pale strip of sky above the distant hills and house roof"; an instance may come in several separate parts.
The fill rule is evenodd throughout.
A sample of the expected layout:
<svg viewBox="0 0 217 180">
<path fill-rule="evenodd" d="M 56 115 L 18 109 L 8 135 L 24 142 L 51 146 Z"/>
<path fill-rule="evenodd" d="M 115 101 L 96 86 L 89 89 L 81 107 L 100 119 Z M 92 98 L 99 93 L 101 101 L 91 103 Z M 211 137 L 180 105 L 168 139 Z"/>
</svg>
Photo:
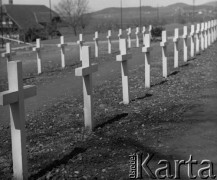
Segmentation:
<svg viewBox="0 0 217 180">
<path fill-rule="evenodd" d="M 89 0 L 89 5 L 91 11 L 100 10 L 107 7 L 119 7 L 121 0 Z M 125 7 L 136 7 L 139 6 L 140 0 L 122 0 L 123 6 Z M 196 4 L 203 4 L 214 0 L 195 0 Z M 216 0 L 217 1 L 217 0 Z M 4 3 L 7 3 L 8 0 L 3 0 Z M 51 0 L 52 7 L 57 5 L 60 0 Z M 150 6 L 166 6 L 169 4 L 183 2 L 187 4 L 192 4 L 193 0 L 142 0 L 142 5 Z M 45 4 L 49 6 L 49 0 L 14 0 L 14 4 Z"/>
</svg>

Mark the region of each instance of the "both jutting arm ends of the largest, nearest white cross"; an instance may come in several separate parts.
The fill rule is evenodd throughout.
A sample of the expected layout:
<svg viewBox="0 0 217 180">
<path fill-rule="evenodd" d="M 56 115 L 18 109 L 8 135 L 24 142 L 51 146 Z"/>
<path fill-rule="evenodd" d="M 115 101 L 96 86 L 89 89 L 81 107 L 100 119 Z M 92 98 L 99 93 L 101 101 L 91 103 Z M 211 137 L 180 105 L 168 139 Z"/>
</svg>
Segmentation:
<svg viewBox="0 0 217 180">
<path fill-rule="evenodd" d="M 28 99 L 30 97 L 36 96 L 37 88 L 36 86 L 25 86 L 24 90 L 24 99 Z M 5 91 L 0 93 L 0 105 L 6 106 L 9 104 L 13 104 L 19 101 L 19 94 L 17 91 Z"/>
</svg>

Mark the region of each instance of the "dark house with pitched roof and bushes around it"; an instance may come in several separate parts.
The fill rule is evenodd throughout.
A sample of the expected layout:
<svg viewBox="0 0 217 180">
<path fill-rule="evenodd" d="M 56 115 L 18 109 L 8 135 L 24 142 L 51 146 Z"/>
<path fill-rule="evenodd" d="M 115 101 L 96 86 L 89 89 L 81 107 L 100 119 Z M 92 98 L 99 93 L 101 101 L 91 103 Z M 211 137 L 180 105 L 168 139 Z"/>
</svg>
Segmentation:
<svg viewBox="0 0 217 180">
<path fill-rule="evenodd" d="M 47 38 L 56 31 L 59 15 L 44 5 L 15 5 L 13 0 L 2 6 L 1 32 L 4 36 L 31 41 Z M 52 27 L 52 28 L 51 28 Z"/>
</svg>

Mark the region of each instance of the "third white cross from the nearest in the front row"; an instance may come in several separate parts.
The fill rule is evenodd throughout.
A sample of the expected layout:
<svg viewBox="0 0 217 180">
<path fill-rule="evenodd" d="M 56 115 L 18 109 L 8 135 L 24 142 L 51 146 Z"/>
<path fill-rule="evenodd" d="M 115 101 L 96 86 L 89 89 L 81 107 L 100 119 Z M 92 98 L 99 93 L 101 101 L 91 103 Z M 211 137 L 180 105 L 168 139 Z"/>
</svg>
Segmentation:
<svg viewBox="0 0 217 180">
<path fill-rule="evenodd" d="M 116 56 L 116 60 L 121 62 L 123 103 L 129 104 L 130 96 L 129 96 L 128 60 L 132 58 L 132 54 L 127 54 L 126 39 L 120 39 L 120 49 L 121 49 L 120 55 Z"/>
</svg>

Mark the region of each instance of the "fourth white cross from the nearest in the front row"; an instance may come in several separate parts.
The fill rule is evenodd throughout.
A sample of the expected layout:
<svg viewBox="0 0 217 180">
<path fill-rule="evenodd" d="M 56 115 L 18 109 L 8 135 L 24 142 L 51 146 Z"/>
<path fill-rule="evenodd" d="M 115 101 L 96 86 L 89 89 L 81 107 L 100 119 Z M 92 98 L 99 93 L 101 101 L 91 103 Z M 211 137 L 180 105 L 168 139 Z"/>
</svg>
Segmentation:
<svg viewBox="0 0 217 180">
<path fill-rule="evenodd" d="M 150 34 L 145 34 L 144 43 L 145 46 L 142 48 L 142 52 L 145 53 L 145 87 L 150 88 L 151 87 L 150 52 L 152 51 Z"/>
</svg>

